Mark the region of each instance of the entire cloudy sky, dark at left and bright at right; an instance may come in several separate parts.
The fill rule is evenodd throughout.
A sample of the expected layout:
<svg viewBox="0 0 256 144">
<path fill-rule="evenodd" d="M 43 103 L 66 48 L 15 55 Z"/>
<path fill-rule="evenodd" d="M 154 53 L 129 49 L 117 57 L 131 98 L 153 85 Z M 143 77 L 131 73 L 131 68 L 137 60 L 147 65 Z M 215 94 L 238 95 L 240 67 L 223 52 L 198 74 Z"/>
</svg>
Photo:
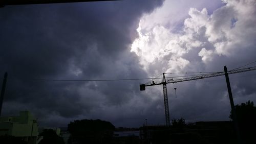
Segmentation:
<svg viewBox="0 0 256 144">
<path fill-rule="evenodd" d="M 2 115 L 29 110 L 41 127 L 102 119 L 164 123 L 162 73 L 224 71 L 256 61 L 253 0 L 109 1 L 0 8 Z M 245 67 L 255 66 L 252 63 Z M 256 71 L 230 75 L 234 104 L 256 102 Z M 169 74 L 167 77 L 184 76 Z M 2 79 L 3 80 L 3 79 Z M 177 95 L 175 95 L 174 88 Z M 167 84 L 170 118 L 229 121 L 224 76 Z"/>
</svg>

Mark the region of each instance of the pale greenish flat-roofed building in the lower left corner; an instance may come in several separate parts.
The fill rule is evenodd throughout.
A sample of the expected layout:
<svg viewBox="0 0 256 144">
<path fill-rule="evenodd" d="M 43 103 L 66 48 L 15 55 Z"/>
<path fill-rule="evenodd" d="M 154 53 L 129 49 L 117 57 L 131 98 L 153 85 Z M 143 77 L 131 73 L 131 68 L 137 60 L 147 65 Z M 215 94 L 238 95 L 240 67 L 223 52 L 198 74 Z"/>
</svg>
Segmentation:
<svg viewBox="0 0 256 144">
<path fill-rule="evenodd" d="M 29 111 L 20 111 L 19 116 L 0 117 L 0 135 L 22 137 L 26 141 L 36 141 L 38 124 Z"/>
</svg>

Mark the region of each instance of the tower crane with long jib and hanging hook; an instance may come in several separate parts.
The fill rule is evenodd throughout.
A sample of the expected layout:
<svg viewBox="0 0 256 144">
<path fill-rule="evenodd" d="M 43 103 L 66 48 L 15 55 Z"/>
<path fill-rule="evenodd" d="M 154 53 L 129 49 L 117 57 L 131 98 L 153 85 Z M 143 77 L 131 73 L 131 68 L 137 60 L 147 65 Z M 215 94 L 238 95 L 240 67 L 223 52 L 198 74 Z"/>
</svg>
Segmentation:
<svg viewBox="0 0 256 144">
<path fill-rule="evenodd" d="M 226 67 L 226 66 L 225 66 Z M 225 69 L 225 68 L 224 68 Z M 247 68 L 241 68 L 241 69 L 234 69 L 227 71 L 227 74 L 236 74 L 236 73 L 243 73 L 245 71 L 251 71 L 256 70 L 256 66 L 254 67 L 247 67 Z M 182 79 L 175 79 L 175 77 L 165 78 L 165 75 L 167 73 L 163 73 L 163 78 L 161 82 L 151 81 L 149 83 L 141 84 L 140 90 L 145 90 L 146 86 L 155 86 L 155 85 L 163 85 L 163 99 L 164 99 L 164 111 L 165 111 L 165 121 L 166 126 L 170 126 L 170 115 L 169 115 L 169 106 L 168 106 L 168 95 L 167 95 L 167 86 L 168 83 L 178 83 L 178 82 L 185 82 L 185 81 L 192 81 L 192 80 L 198 80 L 198 79 L 205 79 L 205 78 L 211 78 L 211 77 L 219 77 L 224 76 L 225 71 L 218 72 L 218 73 L 211 73 L 211 74 L 201 74 L 197 76 L 184 76 L 186 78 Z M 177 78 L 177 77 L 176 77 Z"/>
</svg>

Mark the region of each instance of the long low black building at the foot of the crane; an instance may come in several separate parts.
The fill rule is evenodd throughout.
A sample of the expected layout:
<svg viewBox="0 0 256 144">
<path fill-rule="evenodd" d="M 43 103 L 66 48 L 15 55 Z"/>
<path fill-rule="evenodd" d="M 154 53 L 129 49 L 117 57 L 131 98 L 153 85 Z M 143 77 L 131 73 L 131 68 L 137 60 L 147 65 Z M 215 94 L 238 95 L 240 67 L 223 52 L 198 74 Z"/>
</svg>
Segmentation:
<svg viewBox="0 0 256 144">
<path fill-rule="evenodd" d="M 141 143 L 234 143 L 231 121 L 196 122 L 183 126 L 143 125 Z"/>
</svg>

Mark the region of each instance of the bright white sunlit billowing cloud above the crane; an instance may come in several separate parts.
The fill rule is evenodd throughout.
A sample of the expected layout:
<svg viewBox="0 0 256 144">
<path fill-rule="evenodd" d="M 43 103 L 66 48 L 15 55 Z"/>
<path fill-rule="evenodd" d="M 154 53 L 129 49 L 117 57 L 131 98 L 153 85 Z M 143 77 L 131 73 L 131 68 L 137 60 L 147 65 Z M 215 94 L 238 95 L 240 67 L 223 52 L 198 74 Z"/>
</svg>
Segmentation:
<svg viewBox="0 0 256 144">
<path fill-rule="evenodd" d="M 240 51 L 247 51 L 255 45 L 256 2 L 223 2 L 226 5 L 212 14 L 208 14 L 206 8 L 189 8 L 188 15 L 182 9 L 183 13 L 177 18 L 174 15 L 180 14 L 181 10 L 171 9 L 172 3 L 166 1 L 163 7 L 141 18 L 137 29 L 139 37 L 133 42 L 131 52 L 138 55 L 145 70 L 159 65 L 158 71 L 186 69 L 188 64 L 193 64 L 189 59 L 196 56 L 201 61 L 194 63 L 206 64 L 223 56 L 241 55 Z M 187 18 L 183 18 L 185 16 Z M 173 31 L 182 18 L 184 21 L 178 26 L 179 31 Z"/>
</svg>

